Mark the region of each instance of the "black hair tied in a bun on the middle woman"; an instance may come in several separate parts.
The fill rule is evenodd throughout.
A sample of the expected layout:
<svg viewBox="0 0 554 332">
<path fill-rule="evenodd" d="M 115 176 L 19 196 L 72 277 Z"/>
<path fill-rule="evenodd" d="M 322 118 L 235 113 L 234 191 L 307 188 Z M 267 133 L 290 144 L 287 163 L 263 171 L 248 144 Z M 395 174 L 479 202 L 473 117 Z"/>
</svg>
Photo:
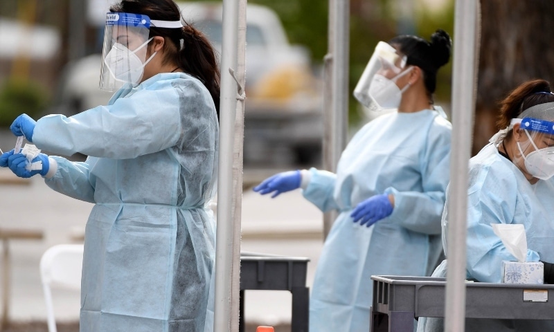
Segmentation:
<svg viewBox="0 0 554 332">
<path fill-rule="evenodd" d="M 431 42 L 418 36 L 400 35 L 388 44 L 397 44 L 400 52 L 406 55 L 406 65 L 418 66 L 423 71 L 423 82 L 429 97 L 435 92 L 438 68 L 448 63 L 452 50 L 452 40 L 445 30 L 436 30 Z"/>
</svg>

